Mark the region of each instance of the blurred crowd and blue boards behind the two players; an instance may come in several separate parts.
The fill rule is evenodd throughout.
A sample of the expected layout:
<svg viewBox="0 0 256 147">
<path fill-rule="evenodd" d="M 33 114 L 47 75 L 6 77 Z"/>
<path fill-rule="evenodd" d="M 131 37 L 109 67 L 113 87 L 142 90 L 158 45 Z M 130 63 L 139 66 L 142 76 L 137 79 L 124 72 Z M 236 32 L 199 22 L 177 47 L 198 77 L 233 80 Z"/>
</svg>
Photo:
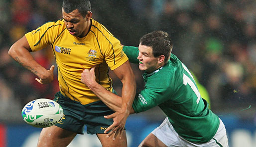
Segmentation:
<svg viewBox="0 0 256 147">
<path fill-rule="evenodd" d="M 256 147 L 255 0 L 91 0 L 91 3 L 93 18 L 123 45 L 137 47 L 139 38 L 149 32 L 168 32 L 173 41 L 172 53 L 193 73 L 202 97 L 226 125 L 230 147 Z M 38 84 L 36 77 L 10 58 L 7 51 L 25 33 L 47 21 L 62 19 L 61 5 L 62 0 L 0 0 L 0 147 L 36 145 L 40 129 L 24 123 L 21 109 L 36 98 L 53 99 L 59 88 L 57 69 L 51 84 Z M 55 65 L 50 47 L 32 54 L 46 69 Z M 143 80 L 137 67 L 132 64 L 139 91 L 143 89 Z M 114 88 L 121 94 L 121 82 L 112 72 L 110 75 Z M 129 116 L 128 146 L 138 146 L 164 118 L 157 107 Z M 100 147 L 100 144 L 96 136 L 83 135 L 76 137 L 69 147 L 73 146 Z"/>
</svg>

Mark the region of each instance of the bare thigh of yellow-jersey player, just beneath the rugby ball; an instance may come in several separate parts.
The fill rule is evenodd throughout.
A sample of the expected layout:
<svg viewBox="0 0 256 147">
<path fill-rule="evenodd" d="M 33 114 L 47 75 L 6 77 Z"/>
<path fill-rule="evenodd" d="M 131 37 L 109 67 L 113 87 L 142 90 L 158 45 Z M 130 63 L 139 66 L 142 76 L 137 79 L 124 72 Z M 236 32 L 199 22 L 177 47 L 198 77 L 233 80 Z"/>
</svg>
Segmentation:
<svg viewBox="0 0 256 147">
<path fill-rule="evenodd" d="M 43 128 L 37 147 L 67 147 L 75 136 L 76 133 L 57 126 Z"/>
</svg>

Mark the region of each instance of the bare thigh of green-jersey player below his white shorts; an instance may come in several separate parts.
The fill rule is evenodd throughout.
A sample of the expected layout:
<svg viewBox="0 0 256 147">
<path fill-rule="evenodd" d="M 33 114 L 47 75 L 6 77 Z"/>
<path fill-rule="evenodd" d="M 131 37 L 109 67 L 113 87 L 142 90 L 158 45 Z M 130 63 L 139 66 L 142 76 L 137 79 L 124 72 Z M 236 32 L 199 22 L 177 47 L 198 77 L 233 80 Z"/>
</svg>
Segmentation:
<svg viewBox="0 0 256 147">
<path fill-rule="evenodd" d="M 157 137 L 150 133 L 138 147 L 167 147 Z"/>
</svg>

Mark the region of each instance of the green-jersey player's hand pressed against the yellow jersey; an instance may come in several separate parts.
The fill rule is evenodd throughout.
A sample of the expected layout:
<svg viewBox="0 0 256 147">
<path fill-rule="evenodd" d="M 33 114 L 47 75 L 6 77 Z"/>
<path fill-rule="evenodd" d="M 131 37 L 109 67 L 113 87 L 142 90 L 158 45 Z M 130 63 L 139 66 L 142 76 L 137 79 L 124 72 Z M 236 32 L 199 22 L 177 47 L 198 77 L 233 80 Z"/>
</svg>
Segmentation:
<svg viewBox="0 0 256 147">
<path fill-rule="evenodd" d="M 91 69 L 84 69 L 81 74 L 81 82 L 87 85 L 87 87 L 91 87 L 94 83 L 96 83 L 95 77 L 95 67 L 93 66 Z"/>
</svg>

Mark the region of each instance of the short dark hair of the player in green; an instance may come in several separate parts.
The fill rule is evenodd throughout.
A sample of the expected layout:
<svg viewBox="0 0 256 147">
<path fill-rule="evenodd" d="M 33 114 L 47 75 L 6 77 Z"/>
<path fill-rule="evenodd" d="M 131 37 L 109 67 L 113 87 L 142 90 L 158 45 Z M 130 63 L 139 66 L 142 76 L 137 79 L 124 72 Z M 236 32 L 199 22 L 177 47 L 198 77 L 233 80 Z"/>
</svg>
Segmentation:
<svg viewBox="0 0 256 147">
<path fill-rule="evenodd" d="M 170 59 L 172 42 L 169 34 L 163 31 L 154 31 L 142 36 L 139 43 L 143 46 L 151 47 L 154 57 L 164 55 L 164 63 Z"/>
</svg>

